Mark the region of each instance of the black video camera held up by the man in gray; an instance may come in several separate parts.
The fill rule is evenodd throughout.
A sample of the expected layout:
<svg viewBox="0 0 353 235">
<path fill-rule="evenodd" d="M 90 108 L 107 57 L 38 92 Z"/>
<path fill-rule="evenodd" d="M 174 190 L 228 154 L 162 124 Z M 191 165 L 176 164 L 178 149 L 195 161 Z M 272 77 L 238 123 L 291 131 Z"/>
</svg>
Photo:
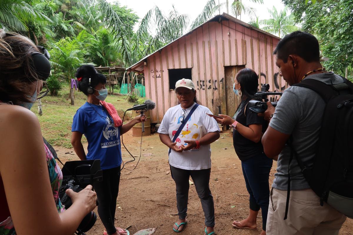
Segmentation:
<svg viewBox="0 0 353 235">
<path fill-rule="evenodd" d="M 267 98 L 268 95 L 282 95 L 282 92 L 269 92 L 268 90 L 270 89 L 269 84 L 263 84 L 261 87 L 261 91 L 256 92 L 254 95 L 255 100 L 250 100 L 249 101 L 249 109 L 255 113 L 263 113 L 267 110 L 267 101 L 269 99 Z M 259 100 L 264 100 L 259 101 Z M 271 102 L 273 106 L 276 107 L 277 101 L 276 102 Z"/>
</svg>

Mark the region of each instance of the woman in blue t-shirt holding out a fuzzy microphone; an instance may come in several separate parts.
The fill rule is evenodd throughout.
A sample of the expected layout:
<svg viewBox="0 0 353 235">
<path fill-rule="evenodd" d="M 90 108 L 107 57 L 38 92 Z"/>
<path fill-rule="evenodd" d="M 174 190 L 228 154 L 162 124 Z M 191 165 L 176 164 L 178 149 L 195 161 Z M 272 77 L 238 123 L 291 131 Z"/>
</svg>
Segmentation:
<svg viewBox="0 0 353 235">
<path fill-rule="evenodd" d="M 98 214 L 106 228 L 103 234 L 126 235 L 129 234 L 127 230 L 114 226 L 122 162 L 120 135 L 135 124 L 144 122 L 146 116 L 137 116 L 122 125 L 114 106 L 104 101 L 108 94 L 106 77 L 97 73 L 92 65 L 85 64 L 77 69 L 76 78 L 78 88 L 87 95 L 87 102 L 73 117 L 71 143 L 81 160 L 101 160 L 103 181 L 93 186 L 99 202 Z M 88 141 L 87 155 L 81 143 L 82 135 Z"/>
</svg>

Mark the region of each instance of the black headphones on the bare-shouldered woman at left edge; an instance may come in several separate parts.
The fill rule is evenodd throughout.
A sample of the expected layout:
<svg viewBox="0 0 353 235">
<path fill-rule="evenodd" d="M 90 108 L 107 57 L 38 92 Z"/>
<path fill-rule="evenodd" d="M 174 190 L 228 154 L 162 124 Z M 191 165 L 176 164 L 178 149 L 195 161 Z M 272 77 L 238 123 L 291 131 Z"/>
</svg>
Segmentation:
<svg viewBox="0 0 353 235">
<path fill-rule="evenodd" d="M 36 70 L 38 78 L 45 81 L 50 75 L 50 55 L 47 49 L 42 46 L 37 46 L 41 52 L 32 52 L 33 67 Z"/>
</svg>

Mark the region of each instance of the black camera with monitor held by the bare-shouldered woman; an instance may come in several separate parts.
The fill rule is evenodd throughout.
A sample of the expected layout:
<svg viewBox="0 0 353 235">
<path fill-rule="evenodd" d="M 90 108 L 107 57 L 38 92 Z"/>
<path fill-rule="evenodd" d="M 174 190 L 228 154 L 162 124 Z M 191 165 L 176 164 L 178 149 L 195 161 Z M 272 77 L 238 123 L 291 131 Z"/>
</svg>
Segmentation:
<svg viewBox="0 0 353 235">
<path fill-rule="evenodd" d="M 100 160 L 68 161 L 61 171 L 62 184 L 59 190 L 59 198 L 66 209 L 72 205 L 71 198 L 65 193 L 67 189 L 79 192 L 87 185 L 93 185 L 94 182 L 103 180 Z M 84 234 L 90 230 L 96 220 L 95 212 L 89 212 L 78 226 L 76 234 Z"/>
</svg>

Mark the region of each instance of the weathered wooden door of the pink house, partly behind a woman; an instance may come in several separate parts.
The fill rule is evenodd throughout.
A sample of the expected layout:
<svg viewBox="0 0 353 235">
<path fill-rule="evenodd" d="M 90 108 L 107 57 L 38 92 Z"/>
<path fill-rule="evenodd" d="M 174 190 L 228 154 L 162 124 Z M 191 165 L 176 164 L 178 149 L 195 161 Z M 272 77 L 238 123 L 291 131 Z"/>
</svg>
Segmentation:
<svg viewBox="0 0 353 235">
<path fill-rule="evenodd" d="M 234 78 L 238 71 L 243 68 L 245 68 L 244 65 L 224 67 L 224 74 L 226 78 L 226 109 L 227 115 L 231 117 L 233 117 L 237 111 L 240 100 L 233 91 Z"/>
</svg>

